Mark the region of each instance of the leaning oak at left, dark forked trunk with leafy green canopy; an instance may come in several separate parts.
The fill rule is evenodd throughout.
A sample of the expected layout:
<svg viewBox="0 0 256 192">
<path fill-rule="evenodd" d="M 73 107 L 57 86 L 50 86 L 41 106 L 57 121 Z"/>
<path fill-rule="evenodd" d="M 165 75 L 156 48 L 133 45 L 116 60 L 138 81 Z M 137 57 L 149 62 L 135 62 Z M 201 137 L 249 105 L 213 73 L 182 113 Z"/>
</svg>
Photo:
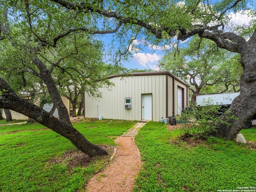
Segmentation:
<svg viewBox="0 0 256 192">
<path fill-rule="evenodd" d="M 6 54 L 2 55 L 3 60 L 0 65 L 3 70 L 0 76 L 0 106 L 35 119 L 68 138 L 78 149 L 90 156 L 105 155 L 107 154 L 105 150 L 88 142 L 72 126 L 69 112 L 62 102 L 58 84 L 56 84 L 56 79 L 60 78 L 56 76 L 57 72 L 69 74 L 71 77 L 74 73 L 78 73 L 79 78 L 84 78 L 83 82 L 87 82 L 84 88 L 92 95 L 99 95 L 98 86 L 110 84 L 104 72 L 100 70 L 104 65 L 101 61 L 102 55 L 92 56 L 100 52 L 98 44 L 94 43 L 99 41 L 92 40 L 85 32 L 79 34 L 66 32 L 70 30 L 71 25 L 68 23 L 74 21 L 76 11 L 66 12 L 66 8 L 62 9 L 55 3 L 49 3 L 1 1 L 0 46 Z M 50 45 L 46 43 L 47 41 L 52 41 L 53 44 Z M 86 55 L 85 50 L 90 54 Z M 86 56 L 90 59 L 85 59 Z M 73 62 L 68 65 L 67 61 Z M 75 64 L 82 65 L 80 68 L 83 67 L 87 71 L 81 72 Z M 97 67 L 96 64 L 98 64 Z M 73 71 L 70 72 L 70 70 Z M 9 77 L 10 71 L 19 74 L 16 77 L 22 79 L 20 85 L 26 84 L 32 76 L 38 78 L 38 82 L 42 81 L 58 109 L 60 120 L 31 102 L 19 98 L 3 79 L 10 80 L 6 78 Z M 15 76 L 10 77 L 15 79 Z M 37 84 L 34 86 L 36 87 Z"/>
</svg>

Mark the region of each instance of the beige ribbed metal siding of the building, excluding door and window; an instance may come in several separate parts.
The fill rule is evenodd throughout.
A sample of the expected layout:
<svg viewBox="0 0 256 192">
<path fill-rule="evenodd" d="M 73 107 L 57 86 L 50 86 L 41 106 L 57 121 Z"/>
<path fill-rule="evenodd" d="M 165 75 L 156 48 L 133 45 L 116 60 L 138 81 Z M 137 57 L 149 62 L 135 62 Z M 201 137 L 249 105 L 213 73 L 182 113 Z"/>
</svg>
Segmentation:
<svg viewBox="0 0 256 192">
<path fill-rule="evenodd" d="M 116 118 L 126 120 L 142 119 L 142 94 L 152 93 L 152 120 L 159 121 L 161 116 L 166 115 L 166 75 L 142 75 L 129 76 L 127 78 L 114 77 L 109 80 L 115 83 L 112 91 L 106 88 L 100 88 L 102 99 L 91 100 L 85 97 L 85 114 L 86 117 L 97 116 L 97 105 L 99 106 L 99 115 L 103 118 Z M 126 82 L 125 82 L 126 81 Z M 173 93 L 173 85 L 175 92 Z M 173 102 L 177 103 L 177 87 L 184 88 L 184 96 L 186 97 L 187 86 L 174 81 L 172 76 L 168 75 L 168 115 L 172 116 L 172 110 L 177 111 L 177 106 L 173 106 Z M 124 98 L 132 98 L 132 109 L 124 109 Z M 174 100 L 174 101 L 173 101 Z M 184 99 L 187 105 L 186 98 Z M 88 108 L 90 112 L 88 112 Z"/>
</svg>

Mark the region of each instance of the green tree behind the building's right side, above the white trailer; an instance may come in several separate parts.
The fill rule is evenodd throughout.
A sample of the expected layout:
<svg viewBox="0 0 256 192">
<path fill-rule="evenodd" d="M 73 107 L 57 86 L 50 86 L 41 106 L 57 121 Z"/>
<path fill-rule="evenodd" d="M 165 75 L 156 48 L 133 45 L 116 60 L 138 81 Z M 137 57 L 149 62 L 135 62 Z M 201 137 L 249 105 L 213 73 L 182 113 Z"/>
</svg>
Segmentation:
<svg viewBox="0 0 256 192">
<path fill-rule="evenodd" d="M 239 68 L 237 54 L 198 36 L 194 36 L 187 46 L 166 53 L 158 66 L 189 81 L 191 105 L 199 94 L 239 91 L 242 68 Z"/>
</svg>

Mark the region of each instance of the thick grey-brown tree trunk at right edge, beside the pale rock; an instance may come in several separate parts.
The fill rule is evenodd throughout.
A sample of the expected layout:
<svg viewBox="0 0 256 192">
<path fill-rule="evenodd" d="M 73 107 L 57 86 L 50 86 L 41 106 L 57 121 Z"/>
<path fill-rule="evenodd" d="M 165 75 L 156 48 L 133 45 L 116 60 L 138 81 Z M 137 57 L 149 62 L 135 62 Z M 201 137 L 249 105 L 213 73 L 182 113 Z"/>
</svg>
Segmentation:
<svg viewBox="0 0 256 192">
<path fill-rule="evenodd" d="M 240 53 L 240 63 L 244 72 L 240 78 L 240 94 L 236 97 L 227 112 L 220 116 L 217 125 L 217 136 L 227 139 L 235 138 L 236 134 L 256 114 L 256 30 L 247 42 L 239 36 L 233 36 L 238 44 L 237 52 Z M 236 118 L 230 118 L 231 115 Z M 231 123 L 228 126 L 222 119 Z"/>
</svg>

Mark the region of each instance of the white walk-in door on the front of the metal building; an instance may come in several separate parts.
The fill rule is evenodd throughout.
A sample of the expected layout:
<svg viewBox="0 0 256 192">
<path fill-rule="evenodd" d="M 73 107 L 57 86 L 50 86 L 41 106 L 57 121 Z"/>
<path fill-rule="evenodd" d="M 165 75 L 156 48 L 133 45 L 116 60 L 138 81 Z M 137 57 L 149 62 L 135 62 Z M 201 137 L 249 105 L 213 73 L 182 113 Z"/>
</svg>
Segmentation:
<svg viewBox="0 0 256 192">
<path fill-rule="evenodd" d="M 152 94 L 142 95 L 142 120 L 152 120 Z"/>
</svg>

